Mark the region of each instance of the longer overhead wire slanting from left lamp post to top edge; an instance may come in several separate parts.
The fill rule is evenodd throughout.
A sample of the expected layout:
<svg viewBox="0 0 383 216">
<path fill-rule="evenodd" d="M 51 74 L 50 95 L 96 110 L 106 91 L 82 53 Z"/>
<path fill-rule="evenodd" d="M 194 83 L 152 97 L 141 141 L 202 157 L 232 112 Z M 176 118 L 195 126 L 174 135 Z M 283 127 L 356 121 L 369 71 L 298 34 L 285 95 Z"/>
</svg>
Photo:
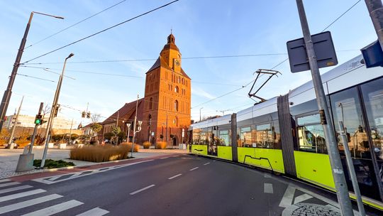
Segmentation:
<svg viewBox="0 0 383 216">
<path fill-rule="evenodd" d="M 145 13 L 141 13 L 140 15 L 138 15 L 138 16 L 134 16 L 133 18 L 129 18 L 129 19 L 126 20 L 126 21 L 122 21 L 121 23 L 117 23 L 116 25 L 110 26 L 110 27 L 105 28 L 105 29 L 103 29 L 103 30 L 101 30 L 101 31 L 97 31 L 96 33 L 93 33 L 93 34 L 91 34 L 91 35 L 89 35 L 89 36 L 86 36 L 86 37 L 84 37 L 84 38 L 81 38 L 81 39 L 79 39 L 79 40 L 77 40 L 77 41 L 74 41 L 74 42 L 72 42 L 72 43 L 68 43 L 67 45 L 63 45 L 63 46 L 60 47 L 60 48 L 56 48 L 55 50 L 51 50 L 51 51 L 49 51 L 48 53 L 44 53 L 43 55 L 38 55 L 37 57 L 32 58 L 32 59 L 30 59 L 30 60 L 27 60 L 27 61 L 24 62 L 24 63 L 29 63 L 30 61 L 36 60 L 36 59 L 41 58 L 41 57 L 43 57 L 43 56 L 45 56 L 45 55 L 49 55 L 50 53 L 55 53 L 57 50 L 61 50 L 61 49 L 66 48 L 66 47 L 68 47 L 68 46 L 70 46 L 70 45 L 73 45 L 73 44 L 75 44 L 75 43 L 79 43 L 80 41 L 84 41 L 84 40 L 86 40 L 87 38 L 91 38 L 91 37 L 93 37 L 93 36 L 96 36 L 96 35 L 98 35 L 99 33 L 103 33 L 103 32 L 105 32 L 105 31 L 110 30 L 111 28 L 115 28 L 115 27 L 117 27 L 117 26 L 121 26 L 121 25 L 124 24 L 124 23 L 127 23 L 127 22 L 129 22 L 129 21 L 133 21 L 133 20 L 135 20 L 136 18 L 139 18 L 139 17 L 141 17 L 141 16 L 145 16 L 145 15 L 148 14 L 148 13 L 152 13 L 152 12 L 157 11 L 157 10 L 159 10 L 159 9 L 165 8 L 166 6 L 169 6 L 169 5 L 171 5 L 171 4 L 174 4 L 174 2 L 177 2 L 177 1 L 179 1 L 179 0 L 170 1 L 169 3 L 164 4 L 164 5 L 162 5 L 162 6 L 159 6 L 159 7 L 155 8 L 155 9 L 152 9 L 152 10 L 150 10 L 150 11 L 146 11 Z"/>
</svg>

